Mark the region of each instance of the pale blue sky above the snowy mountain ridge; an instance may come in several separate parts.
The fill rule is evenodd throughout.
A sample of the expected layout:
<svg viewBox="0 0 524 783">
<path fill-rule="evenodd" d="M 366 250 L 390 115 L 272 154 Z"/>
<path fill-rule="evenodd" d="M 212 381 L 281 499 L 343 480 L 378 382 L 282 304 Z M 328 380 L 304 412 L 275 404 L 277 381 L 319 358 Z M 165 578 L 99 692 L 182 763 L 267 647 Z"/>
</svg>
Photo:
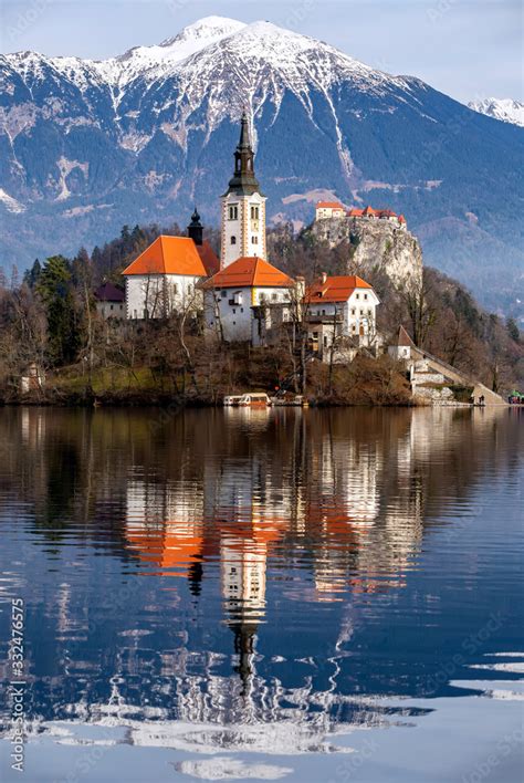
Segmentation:
<svg viewBox="0 0 524 783">
<path fill-rule="evenodd" d="M 524 97 L 521 0 L 1 0 L 0 49 L 101 59 L 210 14 L 266 19 L 460 101 Z"/>
</svg>

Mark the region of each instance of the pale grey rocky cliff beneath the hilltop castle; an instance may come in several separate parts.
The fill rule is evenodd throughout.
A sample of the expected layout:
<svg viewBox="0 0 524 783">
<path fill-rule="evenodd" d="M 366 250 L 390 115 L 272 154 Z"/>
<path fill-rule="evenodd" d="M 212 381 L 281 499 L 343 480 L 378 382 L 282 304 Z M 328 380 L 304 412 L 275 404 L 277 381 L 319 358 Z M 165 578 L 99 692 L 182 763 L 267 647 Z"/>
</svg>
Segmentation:
<svg viewBox="0 0 524 783">
<path fill-rule="evenodd" d="M 335 247 L 349 241 L 355 248 L 352 271 L 361 274 L 384 272 L 399 289 L 421 282 L 422 250 L 417 238 L 406 228 L 388 220 L 332 218 L 317 220 L 313 234 Z"/>
</svg>

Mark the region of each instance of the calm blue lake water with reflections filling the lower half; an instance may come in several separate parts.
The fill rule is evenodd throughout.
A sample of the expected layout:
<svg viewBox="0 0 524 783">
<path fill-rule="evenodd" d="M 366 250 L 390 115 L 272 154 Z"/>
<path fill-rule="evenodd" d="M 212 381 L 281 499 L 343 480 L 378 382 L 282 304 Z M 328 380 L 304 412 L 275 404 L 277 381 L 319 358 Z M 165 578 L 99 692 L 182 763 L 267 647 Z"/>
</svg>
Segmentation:
<svg viewBox="0 0 524 783">
<path fill-rule="evenodd" d="M 2 783 L 521 781 L 522 417 L 0 409 Z"/>
</svg>

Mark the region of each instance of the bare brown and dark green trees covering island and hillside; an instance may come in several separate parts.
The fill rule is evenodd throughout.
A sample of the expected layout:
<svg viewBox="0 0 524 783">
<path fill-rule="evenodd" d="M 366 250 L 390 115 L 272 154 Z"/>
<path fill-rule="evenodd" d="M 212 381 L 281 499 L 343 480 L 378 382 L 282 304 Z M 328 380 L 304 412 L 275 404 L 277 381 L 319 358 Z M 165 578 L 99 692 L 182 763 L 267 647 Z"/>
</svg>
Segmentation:
<svg viewBox="0 0 524 783">
<path fill-rule="evenodd" d="M 15 268 L 0 272 L 3 400 L 17 398 L 20 375 L 32 363 L 45 372 L 59 401 L 72 393 L 81 399 L 111 390 L 109 397 L 117 399 L 125 387 L 127 395 L 134 389 L 137 399 L 153 390 L 163 398 L 192 395 L 212 403 L 242 386 L 271 390 L 296 372 L 296 345 L 291 349 L 284 341 L 256 352 L 210 344 L 199 319 L 102 320 L 93 295 L 97 285 L 111 281 L 123 288 L 123 269 L 160 233 L 182 232 L 177 225 L 124 226 L 118 238 L 95 247 L 91 254 L 83 248 L 74 258 L 35 260 L 23 276 Z M 219 232 L 206 234 L 218 250 Z M 268 231 L 269 260 L 291 276 L 304 275 L 306 282 L 321 272 L 358 273 L 352 268 L 352 255 L 349 243 L 329 249 L 307 231 L 295 236 L 291 225 Z M 463 285 L 431 268 L 425 269 L 416 292 L 394 289 L 379 272 L 366 279 L 380 299 L 377 325 L 386 344 L 402 324 L 419 347 L 493 390 L 505 394 L 522 387 L 524 344 L 514 320 L 484 312 Z M 395 404 L 408 399 L 400 368 L 391 366 L 387 356 L 378 361 L 359 356 L 349 368 L 312 365 L 307 376 L 296 390 L 307 390 L 319 400 Z"/>
</svg>

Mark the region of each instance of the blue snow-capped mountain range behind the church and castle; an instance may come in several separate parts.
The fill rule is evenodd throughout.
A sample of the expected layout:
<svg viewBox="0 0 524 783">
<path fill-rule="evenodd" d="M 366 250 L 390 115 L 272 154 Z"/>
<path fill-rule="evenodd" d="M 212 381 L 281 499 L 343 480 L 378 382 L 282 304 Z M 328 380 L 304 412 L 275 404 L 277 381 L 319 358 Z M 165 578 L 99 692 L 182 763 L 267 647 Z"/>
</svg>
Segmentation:
<svg viewBox="0 0 524 783">
<path fill-rule="evenodd" d="M 317 199 L 404 212 L 425 261 L 524 301 L 524 130 L 269 22 L 209 17 L 105 61 L 0 56 L 1 263 L 102 243 L 193 203 L 219 222 L 245 108 L 271 222 Z M 496 283 L 496 284 L 495 284 Z"/>
</svg>

